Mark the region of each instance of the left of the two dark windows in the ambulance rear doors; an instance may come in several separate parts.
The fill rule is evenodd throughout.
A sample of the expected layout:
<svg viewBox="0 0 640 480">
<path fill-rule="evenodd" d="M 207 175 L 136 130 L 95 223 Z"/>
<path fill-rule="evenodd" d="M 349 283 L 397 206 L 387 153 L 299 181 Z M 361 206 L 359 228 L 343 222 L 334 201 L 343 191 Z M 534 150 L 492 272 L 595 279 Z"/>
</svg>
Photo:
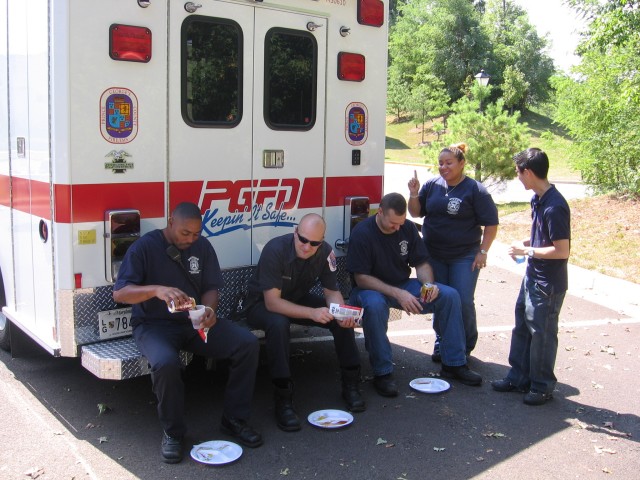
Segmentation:
<svg viewBox="0 0 640 480">
<path fill-rule="evenodd" d="M 182 117 L 194 127 L 233 127 L 242 119 L 242 30 L 222 18 L 182 24 Z"/>
</svg>

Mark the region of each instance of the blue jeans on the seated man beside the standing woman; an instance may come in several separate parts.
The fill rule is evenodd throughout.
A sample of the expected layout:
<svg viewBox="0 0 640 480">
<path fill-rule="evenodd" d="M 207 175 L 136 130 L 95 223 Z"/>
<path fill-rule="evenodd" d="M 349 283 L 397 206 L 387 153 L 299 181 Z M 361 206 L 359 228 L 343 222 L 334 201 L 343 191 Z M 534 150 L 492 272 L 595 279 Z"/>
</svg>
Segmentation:
<svg viewBox="0 0 640 480">
<path fill-rule="evenodd" d="M 442 338 L 440 352 L 442 363 L 451 367 L 458 367 L 467 363 L 465 356 L 464 327 L 460 312 L 460 297 L 458 292 L 446 285 L 437 283 L 440 294 L 433 302 L 424 304 L 422 313 L 434 313 L 433 328 Z M 415 278 L 396 285 L 413 295 L 420 295 L 422 285 Z M 398 302 L 375 290 L 364 290 L 355 287 L 349 298 L 351 305 L 364 308 L 362 328 L 364 330 L 364 345 L 369 352 L 369 363 L 375 376 L 393 372 L 391 342 L 387 337 L 389 323 L 389 309 L 402 308 Z"/>
</svg>

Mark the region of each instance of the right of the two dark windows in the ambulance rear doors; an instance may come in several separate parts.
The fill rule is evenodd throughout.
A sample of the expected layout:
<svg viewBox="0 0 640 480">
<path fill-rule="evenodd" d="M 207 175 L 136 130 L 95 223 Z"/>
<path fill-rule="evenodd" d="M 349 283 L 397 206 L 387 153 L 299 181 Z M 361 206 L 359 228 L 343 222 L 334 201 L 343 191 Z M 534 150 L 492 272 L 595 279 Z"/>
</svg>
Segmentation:
<svg viewBox="0 0 640 480">
<path fill-rule="evenodd" d="M 274 130 L 316 121 L 318 45 L 308 32 L 273 28 L 265 37 L 264 119 Z"/>
</svg>

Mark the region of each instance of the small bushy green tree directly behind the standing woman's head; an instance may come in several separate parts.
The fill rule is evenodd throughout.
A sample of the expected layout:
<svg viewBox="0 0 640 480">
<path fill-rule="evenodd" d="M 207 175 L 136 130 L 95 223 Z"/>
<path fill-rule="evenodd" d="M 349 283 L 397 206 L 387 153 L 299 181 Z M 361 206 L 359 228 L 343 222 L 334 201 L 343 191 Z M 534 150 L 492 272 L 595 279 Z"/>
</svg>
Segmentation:
<svg viewBox="0 0 640 480">
<path fill-rule="evenodd" d="M 468 98 L 456 102 L 454 110 L 448 119 L 449 132 L 426 153 L 437 156 L 444 146 L 464 142 L 469 147 L 467 169 L 473 170 L 476 180 L 491 186 L 513 179 L 512 157 L 529 143 L 527 125 L 518 122 L 520 113 L 509 114 L 502 100 L 487 105 L 481 113 L 479 102 Z"/>
</svg>

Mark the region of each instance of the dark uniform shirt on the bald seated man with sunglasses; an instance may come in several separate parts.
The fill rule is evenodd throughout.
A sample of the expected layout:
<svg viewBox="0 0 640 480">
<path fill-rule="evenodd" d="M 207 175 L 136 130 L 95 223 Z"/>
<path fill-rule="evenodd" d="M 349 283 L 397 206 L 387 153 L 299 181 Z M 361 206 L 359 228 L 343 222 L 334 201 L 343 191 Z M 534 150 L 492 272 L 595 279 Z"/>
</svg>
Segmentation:
<svg viewBox="0 0 640 480">
<path fill-rule="evenodd" d="M 249 294 L 260 298 L 266 290 L 277 288 L 281 298 L 299 302 L 318 282 L 328 290 L 338 290 L 337 262 L 327 242 L 307 258 L 298 258 L 294 234 L 289 233 L 267 242 L 260 254 L 256 271 L 249 280 Z"/>
</svg>

